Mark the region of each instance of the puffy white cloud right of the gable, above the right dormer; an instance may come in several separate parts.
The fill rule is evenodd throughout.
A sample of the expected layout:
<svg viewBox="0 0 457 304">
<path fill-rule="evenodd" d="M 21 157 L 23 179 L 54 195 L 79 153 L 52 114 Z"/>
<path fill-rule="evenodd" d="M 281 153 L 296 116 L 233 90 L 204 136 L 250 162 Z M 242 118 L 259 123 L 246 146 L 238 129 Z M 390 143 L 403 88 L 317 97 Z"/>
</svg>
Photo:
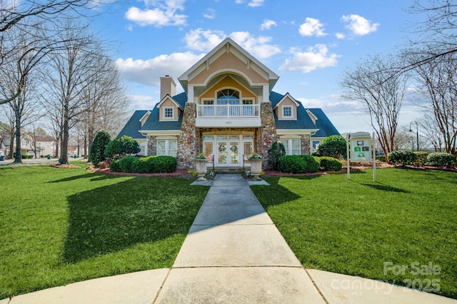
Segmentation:
<svg viewBox="0 0 457 304">
<path fill-rule="evenodd" d="M 336 59 L 340 55 L 328 54 L 328 48 L 325 44 L 316 44 L 307 51 L 302 52 L 299 49 L 291 49 L 293 57 L 286 59 L 286 62 L 279 67 L 279 71 L 301 71 L 309 73 L 315 69 L 323 69 L 328 66 L 336 66 Z"/>
</svg>

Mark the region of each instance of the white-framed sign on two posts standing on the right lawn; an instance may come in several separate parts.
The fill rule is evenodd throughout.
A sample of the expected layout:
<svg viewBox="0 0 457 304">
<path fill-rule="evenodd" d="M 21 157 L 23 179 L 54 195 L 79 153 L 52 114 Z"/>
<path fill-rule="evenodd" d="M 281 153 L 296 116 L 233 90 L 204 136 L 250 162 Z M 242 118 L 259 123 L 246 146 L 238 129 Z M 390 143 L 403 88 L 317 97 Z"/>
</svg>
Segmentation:
<svg viewBox="0 0 457 304">
<path fill-rule="evenodd" d="M 348 179 L 351 179 L 350 161 L 373 161 L 373 181 L 376 181 L 376 151 L 374 147 L 374 133 L 349 133 L 346 141 Z"/>
</svg>

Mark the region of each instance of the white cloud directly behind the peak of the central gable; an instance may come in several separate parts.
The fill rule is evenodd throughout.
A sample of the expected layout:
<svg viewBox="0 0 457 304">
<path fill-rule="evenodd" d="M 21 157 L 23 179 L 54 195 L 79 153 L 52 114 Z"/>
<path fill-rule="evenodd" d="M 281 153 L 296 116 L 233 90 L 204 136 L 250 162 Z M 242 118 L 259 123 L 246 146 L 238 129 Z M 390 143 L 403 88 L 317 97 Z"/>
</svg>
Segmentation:
<svg viewBox="0 0 457 304">
<path fill-rule="evenodd" d="M 226 35 L 224 31 L 196 29 L 189 31 L 184 37 L 184 41 L 186 42 L 187 49 L 211 51 L 211 49 L 214 49 L 227 36 L 230 36 L 233 41 L 258 59 L 266 59 L 281 53 L 281 49 L 278 46 L 269 44 L 272 39 L 271 37 L 254 37 L 248 31 L 234 31 Z"/>
</svg>

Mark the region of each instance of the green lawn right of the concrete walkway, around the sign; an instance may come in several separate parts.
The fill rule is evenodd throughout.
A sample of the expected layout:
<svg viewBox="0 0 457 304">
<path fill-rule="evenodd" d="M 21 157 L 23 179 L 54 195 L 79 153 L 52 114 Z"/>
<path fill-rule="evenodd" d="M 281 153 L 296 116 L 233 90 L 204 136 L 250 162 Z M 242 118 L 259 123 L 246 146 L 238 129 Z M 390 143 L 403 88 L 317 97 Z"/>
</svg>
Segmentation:
<svg viewBox="0 0 457 304">
<path fill-rule="evenodd" d="M 376 183 L 370 170 L 351 181 L 345 174 L 265 180 L 271 186 L 253 192 L 306 268 L 397 285 L 416 280 L 416 288 L 435 279 L 438 294 L 457 298 L 456 173 L 378 169 Z M 384 271 L 384 262 L 406 265 L 404 275 Z M 441 271 L 413 268 L 430 262 Z"/>
</svg>

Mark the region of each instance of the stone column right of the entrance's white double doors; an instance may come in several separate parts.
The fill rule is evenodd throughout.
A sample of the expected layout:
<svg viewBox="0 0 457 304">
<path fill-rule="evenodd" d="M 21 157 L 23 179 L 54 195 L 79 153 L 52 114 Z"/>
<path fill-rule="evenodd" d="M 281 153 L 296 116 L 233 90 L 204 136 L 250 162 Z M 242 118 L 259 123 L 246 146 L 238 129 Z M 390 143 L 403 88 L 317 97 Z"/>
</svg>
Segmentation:
<svg viewBox="0 0 457 304">
<path fill-rule="evenodd" d="M 278 140 L 278 134 L 276 133 L 276 123 L 274 121 L 273 108 L 271 102 L 263 102 L 260 105 L 261 111 L 261 155 L 263 156 L 263 169 L 268 169 L 268 149 L 271 148 L 271 144 Z"/>
</svg>

